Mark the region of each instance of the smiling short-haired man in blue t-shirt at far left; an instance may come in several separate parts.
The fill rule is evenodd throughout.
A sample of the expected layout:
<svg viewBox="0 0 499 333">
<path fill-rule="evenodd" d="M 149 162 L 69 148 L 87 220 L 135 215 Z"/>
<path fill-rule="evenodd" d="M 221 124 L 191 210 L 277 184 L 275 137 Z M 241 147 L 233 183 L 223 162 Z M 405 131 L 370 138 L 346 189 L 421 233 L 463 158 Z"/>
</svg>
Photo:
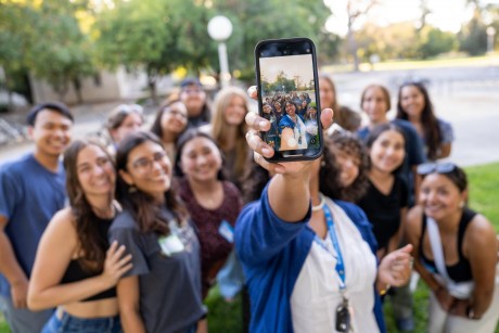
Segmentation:
<svg viewBox="0 0 499 333">
<path fill-rule="evenodd" d="M 0 303 L 12 332 L 40 332 L 52 311 L 29 311 L 26 296 L 47 225 L 65 205 L 61 154 L 71 141 L 73 115 L 61 103 L 28 114 L 35 151 L 0 168 Z"/>
</svg>

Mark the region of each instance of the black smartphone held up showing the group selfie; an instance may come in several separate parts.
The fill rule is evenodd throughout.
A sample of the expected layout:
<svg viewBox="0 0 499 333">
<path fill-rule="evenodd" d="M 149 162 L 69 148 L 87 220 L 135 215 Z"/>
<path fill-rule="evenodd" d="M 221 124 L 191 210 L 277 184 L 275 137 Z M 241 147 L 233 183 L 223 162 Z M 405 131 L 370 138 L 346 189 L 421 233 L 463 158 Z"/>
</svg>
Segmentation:
<svg viewBox="0 0 499 333">
<path fill-rule="evenodd" d="M 316 47 L 308 38 L 263 40 L 255 47 L 258 110 L 271 124 L 261 137 L 270 162 L 315 159 L 322 154 Z"/>
</svg>

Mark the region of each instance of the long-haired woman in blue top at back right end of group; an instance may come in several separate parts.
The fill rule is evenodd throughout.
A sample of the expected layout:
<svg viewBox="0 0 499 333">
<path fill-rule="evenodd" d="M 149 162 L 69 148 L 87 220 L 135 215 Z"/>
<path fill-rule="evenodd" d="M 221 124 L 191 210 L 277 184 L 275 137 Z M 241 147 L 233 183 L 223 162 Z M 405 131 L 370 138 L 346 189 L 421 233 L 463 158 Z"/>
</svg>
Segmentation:
<svg viewBox="0 0 499 333">
<path fill-rule="evenodd" d="M 430 161 L 450 155 L 452 126 L 435 116 L 430 94 L 423 84 L 404 84 L 398 91 L 397 118 L 409 120 L 422 138 Z"/>
</svg>

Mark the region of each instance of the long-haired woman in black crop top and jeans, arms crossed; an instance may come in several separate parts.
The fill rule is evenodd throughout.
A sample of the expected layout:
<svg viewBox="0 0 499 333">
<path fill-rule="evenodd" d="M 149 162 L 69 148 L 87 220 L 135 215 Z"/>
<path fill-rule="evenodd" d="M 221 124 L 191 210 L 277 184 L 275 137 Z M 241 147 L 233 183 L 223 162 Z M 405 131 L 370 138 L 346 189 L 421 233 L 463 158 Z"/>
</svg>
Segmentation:
<svg viewBox="0 0 499 333">
<path fill-rule="evenodd" d="M 131 268 L 131 256 L 107 243 L 117 214 L 112 158 L 98 143 L 77 140 L 64 153 L 64 168 L 69 207 L 41 238 L 28 306 L 57 307 L 42 332 L 120 332 L 115 285 Z"/>
</svg>

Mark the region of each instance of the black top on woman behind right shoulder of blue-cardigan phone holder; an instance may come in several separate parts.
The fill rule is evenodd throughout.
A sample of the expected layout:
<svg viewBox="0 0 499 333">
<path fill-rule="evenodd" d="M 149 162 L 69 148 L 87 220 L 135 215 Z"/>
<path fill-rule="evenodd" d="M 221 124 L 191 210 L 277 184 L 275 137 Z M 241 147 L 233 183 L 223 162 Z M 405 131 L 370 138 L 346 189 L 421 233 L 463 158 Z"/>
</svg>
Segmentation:
<svg viewBox="0 0 499 333">
<path fill-rule="evenodd" d="M 383 194 L 369 181 L 369 189 L 358 205 L 368 216 L 373 226 L 378 248 L 386 248 L 400 226 L 400 209 L 408 205 L 407 183 L 400 176 L 395 176 L 394 184 L 388 195 Z"/>
</svg>

